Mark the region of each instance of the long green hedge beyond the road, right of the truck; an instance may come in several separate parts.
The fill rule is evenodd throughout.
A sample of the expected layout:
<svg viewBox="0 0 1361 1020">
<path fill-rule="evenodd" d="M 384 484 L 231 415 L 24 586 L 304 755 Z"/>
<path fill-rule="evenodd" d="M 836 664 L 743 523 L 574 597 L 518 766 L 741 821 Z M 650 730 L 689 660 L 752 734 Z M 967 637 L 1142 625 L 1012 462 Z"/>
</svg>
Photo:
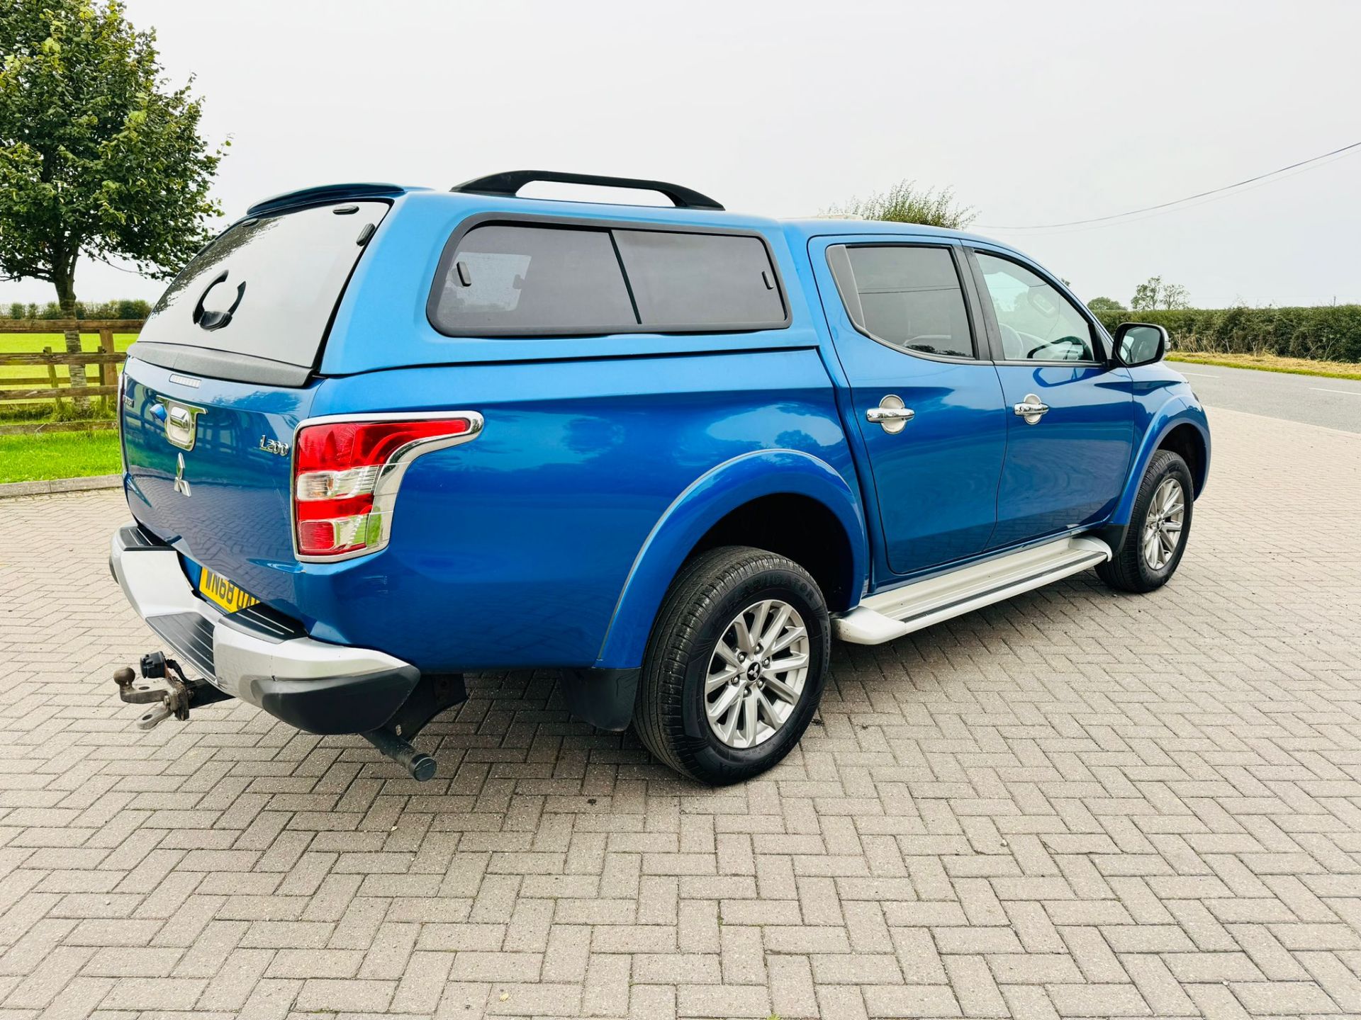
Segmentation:
<svg viewBox="0 0 1361 1020">
<path fill-rule="evenodd" d="M 1121 322 L 1166 326 L 1175 351 L 1361 362 L 1361 305 L 1101 311 L 1097 318 L 1111 330 Z"/>
</svg>

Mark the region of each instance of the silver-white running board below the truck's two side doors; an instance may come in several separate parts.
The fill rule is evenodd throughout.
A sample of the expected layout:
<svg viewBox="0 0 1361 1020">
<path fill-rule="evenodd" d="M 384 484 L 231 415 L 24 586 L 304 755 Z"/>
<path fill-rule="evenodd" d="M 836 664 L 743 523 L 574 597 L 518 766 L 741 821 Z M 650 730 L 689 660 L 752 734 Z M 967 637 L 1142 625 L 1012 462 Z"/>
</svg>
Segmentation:
<svg viewBox="0 0 1361 1020">
<path fill-rule="evenodd" d="M 870 596 L 853 609 L 834 616 L 832 632 L 855 645 L 882 645 L 1108 559 L 1111 547 L 1090 534 L 1032 545 Z"/>
</svg>

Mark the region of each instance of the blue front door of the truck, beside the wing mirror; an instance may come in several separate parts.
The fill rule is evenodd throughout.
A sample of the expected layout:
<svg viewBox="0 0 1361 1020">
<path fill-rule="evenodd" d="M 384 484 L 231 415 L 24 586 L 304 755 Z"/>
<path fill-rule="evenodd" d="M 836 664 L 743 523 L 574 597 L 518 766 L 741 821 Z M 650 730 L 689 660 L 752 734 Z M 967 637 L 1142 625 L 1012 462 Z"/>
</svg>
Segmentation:
<svg viewBox="0 0 1361 1020">
<path fill-rule="evenodd" d="M 999 252 L 969 257 L 1007 405 L 988 548 L 1105 520 L 1132 454 L 1128 371 L 1106 359 L 1087 314 L 1033 268 Z"/>
</svg>

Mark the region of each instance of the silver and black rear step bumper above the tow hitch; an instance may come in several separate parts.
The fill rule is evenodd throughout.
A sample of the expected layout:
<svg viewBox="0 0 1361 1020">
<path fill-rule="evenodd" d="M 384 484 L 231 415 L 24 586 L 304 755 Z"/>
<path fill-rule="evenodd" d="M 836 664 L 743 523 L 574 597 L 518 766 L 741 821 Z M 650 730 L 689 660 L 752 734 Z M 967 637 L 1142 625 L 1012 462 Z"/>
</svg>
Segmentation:
<svg viewBox="0 0 1361 1020">
<path fill-rule="evenodd" d="M 114 532 L 109 568 L 186 670 L 310 733 L 365 733 L 407 700 L 421 672 L 373 649 L 328 645 L 267 613 L 199 598 L 180 555 L 137 525 Z"/>
</svg>

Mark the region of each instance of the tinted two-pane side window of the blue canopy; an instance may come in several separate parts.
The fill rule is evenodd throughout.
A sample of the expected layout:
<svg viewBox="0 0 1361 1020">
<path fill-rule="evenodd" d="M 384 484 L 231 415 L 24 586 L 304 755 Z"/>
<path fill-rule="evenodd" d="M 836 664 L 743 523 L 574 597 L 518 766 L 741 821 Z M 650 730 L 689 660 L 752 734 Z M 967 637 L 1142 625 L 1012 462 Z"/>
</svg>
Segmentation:
<svg viewBox="0 0 1361 1020">
<path fill-rule="evenodd" d="M 448 336 L 780 329 L 755 234 L 482 223 L 445 248 L 427 307 Z"/>
</svg>

